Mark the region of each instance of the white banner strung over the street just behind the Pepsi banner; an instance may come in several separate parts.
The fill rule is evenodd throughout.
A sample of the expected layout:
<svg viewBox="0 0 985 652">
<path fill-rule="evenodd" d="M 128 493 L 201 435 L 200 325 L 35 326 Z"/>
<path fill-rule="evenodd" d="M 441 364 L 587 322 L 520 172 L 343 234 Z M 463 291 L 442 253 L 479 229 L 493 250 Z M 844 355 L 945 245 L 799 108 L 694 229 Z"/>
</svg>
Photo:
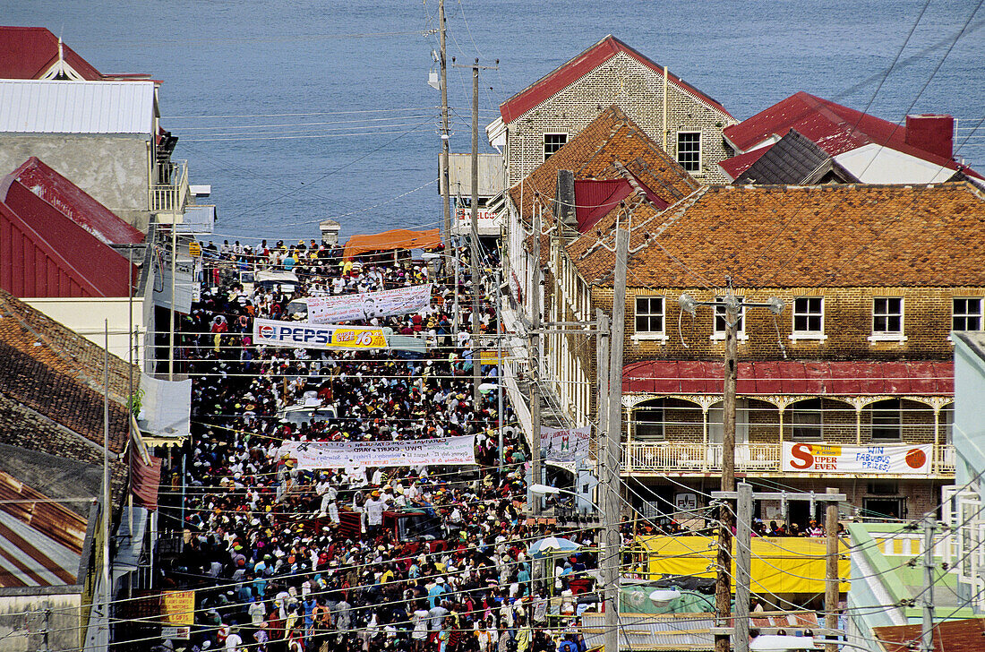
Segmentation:
<svg viewBox="0 0 985 652">
<path fill-rule="evenodd" d="M 373 317 L 390 317 L 423 310 L 430 305 L 431 285 L 382 290 L 377 293 L 308 297 L 308 321 L 337 324 Z"/>
</svg>

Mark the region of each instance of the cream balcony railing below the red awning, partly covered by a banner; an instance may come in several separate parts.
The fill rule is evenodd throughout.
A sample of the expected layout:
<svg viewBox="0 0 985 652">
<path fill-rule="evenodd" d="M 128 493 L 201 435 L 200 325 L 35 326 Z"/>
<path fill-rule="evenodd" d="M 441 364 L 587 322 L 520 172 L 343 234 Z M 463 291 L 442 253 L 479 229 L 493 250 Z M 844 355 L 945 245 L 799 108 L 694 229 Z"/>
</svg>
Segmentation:
<svg viewBox="0 0 985 652">
<path fill-rule="evenodd" d="M 632 442 L 623 447 L 624 474 L 708 473 L 722 469 L 722 444 L 700 444 L 682 441 Z M 736 471 L 779 472 L 780 444 L 736 444 Z M 954 447 L 934 447 L 931 473 L 954 472 Z"/>
</svg>

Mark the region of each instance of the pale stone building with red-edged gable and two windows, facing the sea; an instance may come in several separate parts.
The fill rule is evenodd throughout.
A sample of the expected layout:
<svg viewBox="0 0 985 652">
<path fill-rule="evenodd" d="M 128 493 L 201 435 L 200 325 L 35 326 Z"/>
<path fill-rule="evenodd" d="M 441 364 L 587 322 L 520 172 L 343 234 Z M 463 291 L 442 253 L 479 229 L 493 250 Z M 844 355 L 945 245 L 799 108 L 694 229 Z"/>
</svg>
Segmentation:
<svg viewBox="0 0 985 652">
<path fill-rule="evenodd" d="M 612 104 L 695 178 L 726 180 L 718 163 L 731 154 L 722 130 L 737 120 L 716 100 L 608 35 L 499 106 L 501 117 L 486 132 L 503 153 L 506 187 Z"/>
</svg>

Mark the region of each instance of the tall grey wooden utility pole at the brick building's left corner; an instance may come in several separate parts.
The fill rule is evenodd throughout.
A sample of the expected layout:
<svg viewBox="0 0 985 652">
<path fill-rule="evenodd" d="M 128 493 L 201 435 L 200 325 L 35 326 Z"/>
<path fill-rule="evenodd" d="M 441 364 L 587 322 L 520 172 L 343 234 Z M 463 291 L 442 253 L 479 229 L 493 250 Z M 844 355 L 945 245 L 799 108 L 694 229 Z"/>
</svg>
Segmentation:
<svg viewBox="0 0 985 652">
<path fill-rule="evenodd" d="M 626 216 L 624 215 L 624 219 Z M 620 467 L 623 462 L 623 343 L 625 338 L 625 277 L 629 258 L 629 231 L 616 228 L 616 278 L 613 288 L 613 324 L 609 352 L 609 417 L 605 450 L 599 455 L 603 494 L 602 584 L 605 587 L 606 652 L 619 652 L 619 593 L 622 537 Z"/>
</svg>

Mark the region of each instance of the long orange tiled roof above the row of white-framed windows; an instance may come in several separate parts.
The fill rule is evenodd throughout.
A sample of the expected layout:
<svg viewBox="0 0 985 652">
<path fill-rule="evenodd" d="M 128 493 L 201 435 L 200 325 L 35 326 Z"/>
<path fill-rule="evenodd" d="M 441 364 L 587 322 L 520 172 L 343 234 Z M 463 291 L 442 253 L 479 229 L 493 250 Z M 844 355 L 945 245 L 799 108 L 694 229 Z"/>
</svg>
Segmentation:
<svg viewBox="0 0 985 652">
<path fill-rule="evenodd" d="M 985 195 L 927 186 L 707 186 L 664 212 L 632 208 L 629 287 L 985 286 Z M 600 223 L 612 247 L 617 209 Z M 624 218 L 622 218 L 624 220 Z M 586 235 L 567 251 L 588 281 L 614 256 Z M 961 265 L 953 261 L 959 259 Z"/>
</svg>

